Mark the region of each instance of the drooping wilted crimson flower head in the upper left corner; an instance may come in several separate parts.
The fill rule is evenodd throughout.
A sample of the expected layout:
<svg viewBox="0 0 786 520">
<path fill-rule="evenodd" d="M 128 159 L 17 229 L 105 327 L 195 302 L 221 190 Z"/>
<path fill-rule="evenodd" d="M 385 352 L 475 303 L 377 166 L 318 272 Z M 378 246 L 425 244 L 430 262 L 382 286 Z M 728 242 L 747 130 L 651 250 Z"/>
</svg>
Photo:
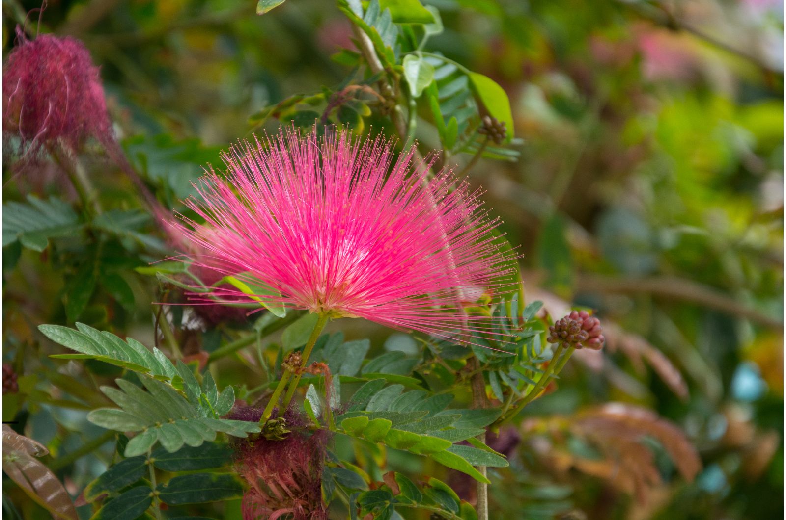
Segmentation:
<svg viewBox="0 0 786 520">
<path fill-rule="evenodd" d="M 86 137 L 113 141 L 98 68 L 75 38 L 40 35 L 20 45 L 3 70 L 3 132 L 39 149 L 63 141 L 79 149 Z"/>
</svg>

